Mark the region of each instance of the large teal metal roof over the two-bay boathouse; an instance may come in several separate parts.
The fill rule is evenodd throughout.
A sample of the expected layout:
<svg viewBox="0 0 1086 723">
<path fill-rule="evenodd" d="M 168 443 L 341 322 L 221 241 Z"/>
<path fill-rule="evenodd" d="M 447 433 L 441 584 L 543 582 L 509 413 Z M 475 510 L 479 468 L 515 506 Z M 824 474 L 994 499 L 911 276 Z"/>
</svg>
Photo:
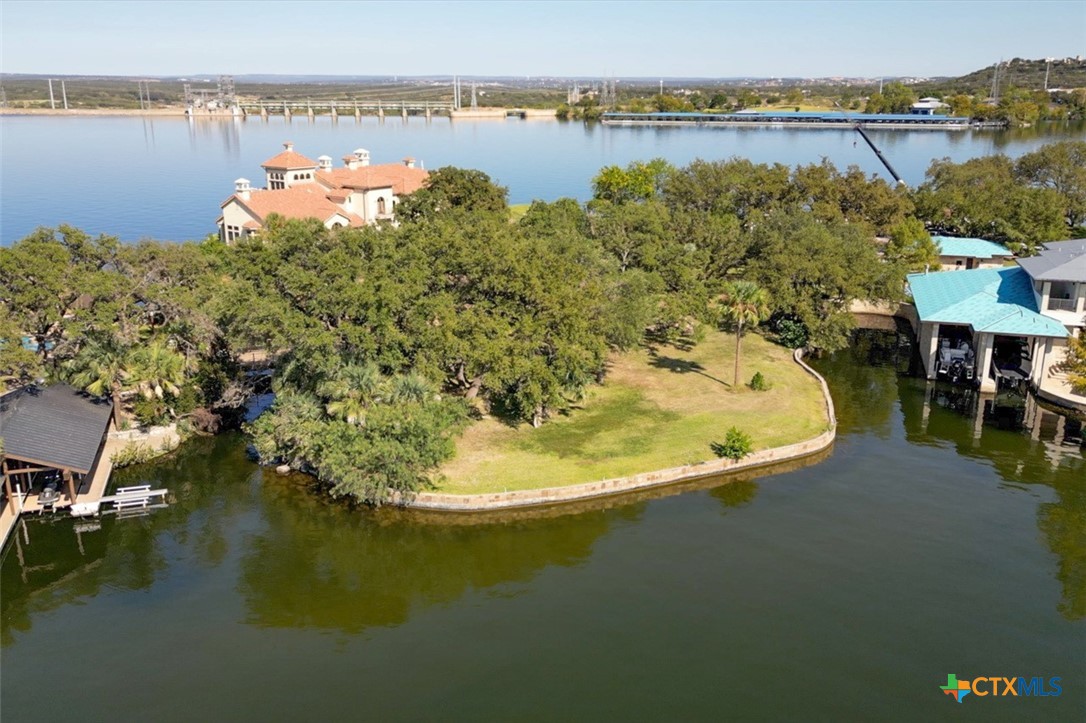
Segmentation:
<svg viewBox="0 0 1086 723">
<path fill-rule="evenodd" d="M 1016 266 L 910 274 L 909 287 L 921 321 L 1015 337 L 1068 335 L 1062 324 L 1037 313 L 1030 275 Z"/>
</svg>

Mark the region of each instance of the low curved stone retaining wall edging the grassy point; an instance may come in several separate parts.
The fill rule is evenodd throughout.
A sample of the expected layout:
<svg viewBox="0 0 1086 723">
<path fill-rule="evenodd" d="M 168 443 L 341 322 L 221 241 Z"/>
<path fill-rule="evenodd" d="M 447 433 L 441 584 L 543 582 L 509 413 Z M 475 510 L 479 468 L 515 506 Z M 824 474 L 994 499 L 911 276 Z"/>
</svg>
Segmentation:
<svg viewBox="0 0 1086 723">
<path fill-rule="evenodd" d="M 515 492 L 494 492 L 479 495 L 452 495 L 440 492 L 421 492 L 407 503 L 408 507 L 427 510 L 478 511 L 531 507 L 535 505 L 554 505 L 592 497 L 616 495 L 665 484 L 673 484 L 703 477 L 722 474 L 737 470 L 765 467 L 776 462 L 806 457 L 833 445 L 836 436 L 837 417 L 833 408 L 833 398 L 825 380 L 817 371 L 807 366 L 803 359 L 803 351 L 796 350 L 793 355 L 796 364 L 818 380 L 825 401 L 825 413 L 829 428 L 818 436 L 796 444 L 772 449 L 762 449 L 747 455 L 738 461 L 732 459 L 712 459 L 696 465 L 684 465 L 671 469 L 644 472 L 632 477 L 620 477 L 601 482 L 571 484 L 564 487 L 545 487 L 542 490 L 517 490 Z"/>
</svg>

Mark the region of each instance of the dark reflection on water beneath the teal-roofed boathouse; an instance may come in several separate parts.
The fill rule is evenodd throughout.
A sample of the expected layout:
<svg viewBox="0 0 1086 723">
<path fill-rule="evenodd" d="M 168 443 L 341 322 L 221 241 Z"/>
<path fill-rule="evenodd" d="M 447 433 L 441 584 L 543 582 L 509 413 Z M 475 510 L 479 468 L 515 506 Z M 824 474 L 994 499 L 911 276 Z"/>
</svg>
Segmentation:
<svg viewBox="0 0 1086 723">
<path fill-rule="evenodd" d="M 1083 419 L 1033 394 L 981 394 L 902 373 L 902 340 L 911 347 L 905 332 L 860 331 L 849 350 L 816 362 L 830 382 L 839 432 L 888 436 L 896 402 L 909 444 L 950 447 L 989 465 L 1008 484 L 1051 489 L 1056 500 L 1040 505 L 1037 525 L 1059 559 L 1060 612 L 1086 618 Z"/>
</svg>

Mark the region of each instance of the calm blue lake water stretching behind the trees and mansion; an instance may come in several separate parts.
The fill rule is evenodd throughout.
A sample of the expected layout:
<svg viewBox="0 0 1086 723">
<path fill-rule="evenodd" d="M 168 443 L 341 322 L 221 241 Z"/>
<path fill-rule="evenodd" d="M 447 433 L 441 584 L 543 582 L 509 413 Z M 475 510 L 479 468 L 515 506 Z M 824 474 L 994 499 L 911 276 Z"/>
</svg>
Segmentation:
<svg viewBox="0 0 1086 723">
<path fill-rule="evenodd" d="M 1016 156 L 1060 138 L 1086 138 L 1086 124 L 1024 130 L 869 131 L 905 180 L 915 186 L 933 158 Z M 216 230 L 233 181 L 264 183 L 260 164 L 292 140 L 311 158 L 368 149 L 375 163 L 411 155 L 426 168 L 479 168 L 509 189 L 512 203 L 588 200 L 605 165 L 664 157 L 748 157 L 758 163 L 856 164 L 886 177 L 850 130 L 797 128 L 606 127 L 532 120 L 353 117 L 332 122 L 182 117 L 0 116 L 0 243 L 38 226 L 71 224 L 131 241 L 202 239 Z M 859 142 L 857 142 L 859 141 Z"/>
</svg>

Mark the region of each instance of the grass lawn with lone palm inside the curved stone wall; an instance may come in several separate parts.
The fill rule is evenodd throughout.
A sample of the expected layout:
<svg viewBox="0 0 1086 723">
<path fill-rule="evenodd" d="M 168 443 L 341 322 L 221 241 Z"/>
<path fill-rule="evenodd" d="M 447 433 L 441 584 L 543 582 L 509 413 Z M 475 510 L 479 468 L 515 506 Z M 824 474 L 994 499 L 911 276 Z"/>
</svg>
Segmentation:
<svg viewBox="0 0 1086 723">
<path fill-rule="evenodd" d="M 730 427 L 756 449 L 810 439 L 828 420 L 818 382 L 790 350 L 743 338 L 742 379 L 732 391 L 735 337 L 709 332 L 692 350 L 670 345 L 617 355 L 602 386 L 568 416 L 540 429 L 485 418 L 457 441 L 439 490 L 453 494 L 564 486 L 712 459 Z M 745 383 L 761 371 L 771 389 Z"/>
</svg>

